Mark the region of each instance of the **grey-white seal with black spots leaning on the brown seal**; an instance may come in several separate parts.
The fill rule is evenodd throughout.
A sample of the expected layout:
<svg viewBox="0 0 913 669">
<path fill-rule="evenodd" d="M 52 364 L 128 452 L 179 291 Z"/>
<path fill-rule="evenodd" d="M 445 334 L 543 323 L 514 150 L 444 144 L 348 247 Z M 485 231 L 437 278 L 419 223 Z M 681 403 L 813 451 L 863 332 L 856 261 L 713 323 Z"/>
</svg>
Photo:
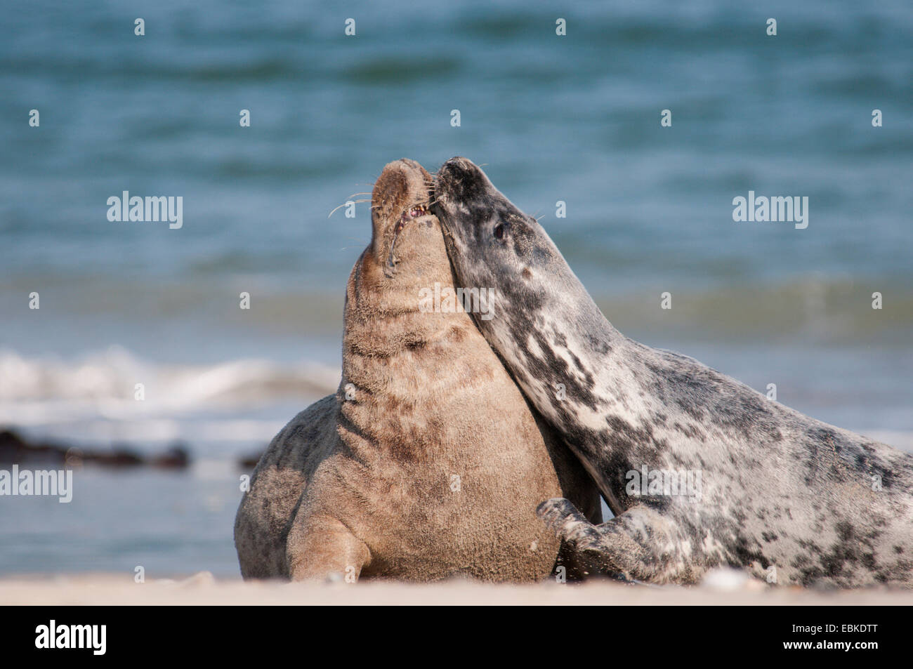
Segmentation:
<svg viewBox="0 0 913 669">
<path fill-rule="evenodd" d="M 432 211 L 458 282 L 495 288 L 479 329 L 614 512 L 593 525 L 566 499 L 540 506 L 590 569 L 656 583 L 733 566 L 780 584 L 913 585 L 913 455 L 624 337 L 472 162 L 441 168 Z"/>
</svg>

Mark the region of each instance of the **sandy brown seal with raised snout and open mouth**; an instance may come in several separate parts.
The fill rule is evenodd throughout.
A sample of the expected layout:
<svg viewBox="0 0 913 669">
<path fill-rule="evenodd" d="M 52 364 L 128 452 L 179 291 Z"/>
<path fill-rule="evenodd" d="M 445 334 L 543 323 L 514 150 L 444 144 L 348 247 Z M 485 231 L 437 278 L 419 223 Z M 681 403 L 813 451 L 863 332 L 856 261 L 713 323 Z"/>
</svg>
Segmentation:
<svg viewBox="0 0 913 669">
<path fill-rule="evenodd" d="M 453 287 L 431 183 L 401 160 L 374 185 L 372 241 L 346 289 L 339 390 L 260 459 L 236 517 L 245 578 L 540 580 L 559 542 L 536 506 L 571 497 L 600 517 L 593 481 L 469 314 L 428 299 Z"/>
</svg>

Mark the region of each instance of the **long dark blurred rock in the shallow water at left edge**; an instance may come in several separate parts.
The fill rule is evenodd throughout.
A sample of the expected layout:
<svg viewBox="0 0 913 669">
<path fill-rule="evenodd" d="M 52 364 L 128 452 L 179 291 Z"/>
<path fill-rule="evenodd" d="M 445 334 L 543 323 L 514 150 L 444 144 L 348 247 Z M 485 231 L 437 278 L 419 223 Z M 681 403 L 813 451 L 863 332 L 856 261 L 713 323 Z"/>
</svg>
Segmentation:
<svg viewBox="0 0 913 669">
<path fill-rule="evenodd" d="M 113 450 L 89 450 L 61 444 L 33 444 L 12 430 L 0 431 L 0 463 L 19 465 L 100 465 L 121 469 L 124 467 L 152 466 L 163 469 L 184 469 L 190 465 L 190 455 L 183 444 L 173 444 L 161 455 L 143 457 L 128 447 Z"/>
</svg>

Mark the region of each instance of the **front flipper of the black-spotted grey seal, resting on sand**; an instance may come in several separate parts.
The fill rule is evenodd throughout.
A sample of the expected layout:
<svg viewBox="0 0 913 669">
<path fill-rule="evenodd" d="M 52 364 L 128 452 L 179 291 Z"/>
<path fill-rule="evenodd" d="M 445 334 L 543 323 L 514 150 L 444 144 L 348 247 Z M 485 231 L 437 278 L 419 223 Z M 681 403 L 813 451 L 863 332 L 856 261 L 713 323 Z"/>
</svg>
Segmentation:
<svg viewBox="0 0 913 669">
<path fill-rule="evenodd" d="M 650 507 L 631 507 L 602 525 L 561 497 L 542 502 L 536 513 L 590 573 L 656 583 L 682 576 L 671 559 L 678 551 L 659 552 L 675 546 L 669 521 Z"/>
</svg>

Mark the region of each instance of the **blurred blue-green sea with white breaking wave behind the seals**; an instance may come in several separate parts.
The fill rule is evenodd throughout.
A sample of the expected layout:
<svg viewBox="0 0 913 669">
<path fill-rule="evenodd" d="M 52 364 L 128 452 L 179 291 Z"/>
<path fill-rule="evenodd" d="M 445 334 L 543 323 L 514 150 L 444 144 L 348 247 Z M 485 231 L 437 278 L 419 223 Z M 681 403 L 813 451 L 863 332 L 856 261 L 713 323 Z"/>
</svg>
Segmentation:
<svg viewBox="0 0 913 669">
<path fill-rule="evenodd" d="M 238 574 L 238 459 L 339 381 L 369 204 L 329 214 L 404 156 L 483 164 L 625 334 L 910 449 L 911 82 L 909 0 L 5 4 L 0 428 L 190 464 L 0 497 L 0 574 Z M 734 223 L 749 190 L 808 228 Z"/>
</svg>

